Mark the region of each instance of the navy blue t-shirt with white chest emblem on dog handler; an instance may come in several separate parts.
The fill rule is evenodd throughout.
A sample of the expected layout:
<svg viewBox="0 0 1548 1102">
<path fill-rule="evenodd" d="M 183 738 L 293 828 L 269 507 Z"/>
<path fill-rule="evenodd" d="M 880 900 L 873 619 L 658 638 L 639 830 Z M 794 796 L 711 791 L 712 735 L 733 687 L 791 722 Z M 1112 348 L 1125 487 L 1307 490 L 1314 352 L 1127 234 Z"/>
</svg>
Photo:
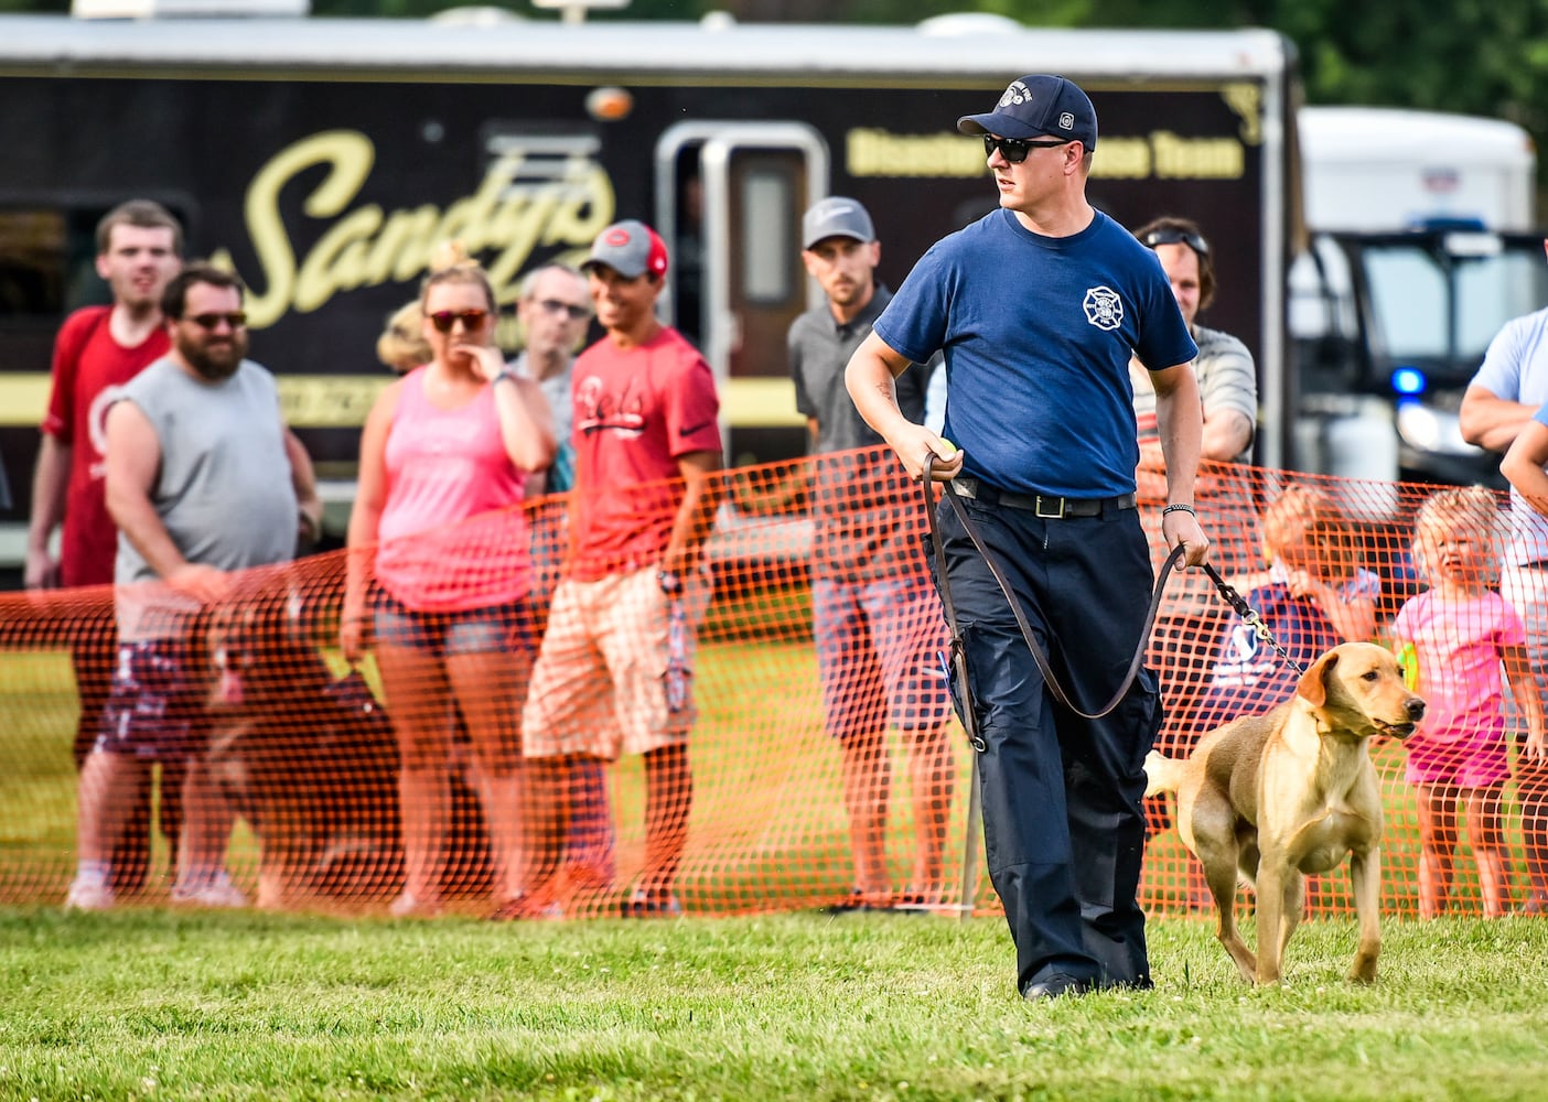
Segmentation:
<svg viewBox="0 0 1548 1102">
<path fill-rule="evenodd" d="M 1130 354 L 1198 354 L 1156 254 L 1102 212 L 1071 237 L 991 212 L 920 258 L 875 333 L 916 364 L 944 351 L 964 474 L 1062 497 L 1135 489 Z"/>
</svg>

